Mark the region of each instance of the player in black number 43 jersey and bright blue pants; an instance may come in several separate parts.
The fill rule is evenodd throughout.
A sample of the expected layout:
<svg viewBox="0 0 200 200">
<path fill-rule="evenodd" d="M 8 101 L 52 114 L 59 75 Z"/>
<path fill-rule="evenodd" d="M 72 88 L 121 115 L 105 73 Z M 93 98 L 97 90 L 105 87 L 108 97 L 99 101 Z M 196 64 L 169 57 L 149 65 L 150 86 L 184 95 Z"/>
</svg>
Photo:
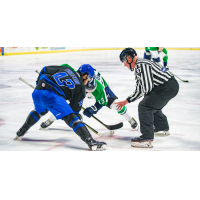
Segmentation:
<svg viewBox="0 0 200 200">
<path fill-rule="evenodd" d="M 57 120 L 62 119 L 92 150 L 106 149 L 105 142 L 95 141 L 79 118 L 79 112 L 85 98 L 85 85 L 93 79 L 93 74 L 75 72 L 68 64 L 44 67 L 36 81 L 32 93 L 35 110 L 30 112 L 24 125 L 17 131 L 15 140 L 19 140 L 50 111 Z M 69 104 L 66 102 L 69 100 Z"/>
</svg>

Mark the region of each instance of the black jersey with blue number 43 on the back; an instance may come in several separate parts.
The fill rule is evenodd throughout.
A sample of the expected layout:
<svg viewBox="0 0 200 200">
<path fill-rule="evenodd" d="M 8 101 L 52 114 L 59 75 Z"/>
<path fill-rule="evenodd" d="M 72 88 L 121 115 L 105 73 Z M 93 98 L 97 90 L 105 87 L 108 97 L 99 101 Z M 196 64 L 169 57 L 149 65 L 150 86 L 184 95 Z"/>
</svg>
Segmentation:
<svg viewBox="0 0 200 200">
<path fill-rule="evenodd" d="M 85 98 L 82 78 L 69 65 L 44 67 L 37 79 L 37 90 L 50 89 L 57 95 L 69 100 L 74 112 L 79 112 Z"/>
</svg>

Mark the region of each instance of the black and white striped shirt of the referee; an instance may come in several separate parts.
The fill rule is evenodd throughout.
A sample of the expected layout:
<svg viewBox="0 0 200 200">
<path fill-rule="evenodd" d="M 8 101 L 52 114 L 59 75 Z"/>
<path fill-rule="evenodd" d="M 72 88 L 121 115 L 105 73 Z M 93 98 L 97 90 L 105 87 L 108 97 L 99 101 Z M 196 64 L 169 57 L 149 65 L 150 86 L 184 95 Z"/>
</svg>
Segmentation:
<svg viewBox="0 0 200 200">
<path fill-rule="evenodd" d="M 161 71 L 162 66 L 150 60 L 138 58 L 135 64 L 135 80 L 136 89 L 127 101 L 133 102 L 142 96 L 145 96 L 155 86 L 159 86 L 167 82 L 173 75 L 167 71 Z"/>
</svg>

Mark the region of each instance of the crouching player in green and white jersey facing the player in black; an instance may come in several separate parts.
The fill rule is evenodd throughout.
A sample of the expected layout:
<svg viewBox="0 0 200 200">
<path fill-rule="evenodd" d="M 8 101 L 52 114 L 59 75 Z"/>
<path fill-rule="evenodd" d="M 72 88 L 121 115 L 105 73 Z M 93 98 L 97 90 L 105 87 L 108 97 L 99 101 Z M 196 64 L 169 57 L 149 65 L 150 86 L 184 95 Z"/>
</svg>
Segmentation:
<svg viewBox="0 0 200 200">
<path fill-rule="evenodd" d="M 89 64 L 84 64 L 78 69 L 78 72 L 82 75 L 87 72 L 93 75 L 93 78 L 85 85 L 87 92 L 86 97 L 95 99 L 96 103 L 84 110 L 83 114 L 85 116 L 90 118 L 92 115 L 97 114 L 102 107 L 106 106 L 109 109 L 116 110 L 118 114 L 123 116 L 130 123 L 133 129 L 139 129 L 136 120 L 127 112 L 127 108 L 123 106 L 121 109 L 118 109 L 117 105 L 114 104 L 116 99 L 118 99 L 117 96 L 112 92 L 105 79 L 96 69 Z M 52 115 L 47 121 L 41 124 L 41 127 L 47 128 L 55 120 L 56 118 Z"/>
</svg>

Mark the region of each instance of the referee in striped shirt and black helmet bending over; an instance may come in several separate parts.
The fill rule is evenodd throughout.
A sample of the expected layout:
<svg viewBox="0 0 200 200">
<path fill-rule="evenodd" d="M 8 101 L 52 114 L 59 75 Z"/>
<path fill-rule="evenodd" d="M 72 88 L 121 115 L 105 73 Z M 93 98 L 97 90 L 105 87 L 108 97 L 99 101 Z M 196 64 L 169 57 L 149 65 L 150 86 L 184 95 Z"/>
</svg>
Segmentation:
<svg viewBox="0 0 200 200">
<path fill-rule="evenodd" d="M 144 96 L 138 112 L 142 135 L 132 139 L 133 147 L 152 148 L 155 133 L 169 135 L 169 124 L 162 109 L 179 91 L 179 85 L 169 72 L 162 72 L 162 66 L 150 60 L 137 57 L 132 48 L 124 49 L 120 60 L 129 70 L 135 70 L 136 89 L 126 100 L 117 102 L 121 108 Z"/>
</svg>

